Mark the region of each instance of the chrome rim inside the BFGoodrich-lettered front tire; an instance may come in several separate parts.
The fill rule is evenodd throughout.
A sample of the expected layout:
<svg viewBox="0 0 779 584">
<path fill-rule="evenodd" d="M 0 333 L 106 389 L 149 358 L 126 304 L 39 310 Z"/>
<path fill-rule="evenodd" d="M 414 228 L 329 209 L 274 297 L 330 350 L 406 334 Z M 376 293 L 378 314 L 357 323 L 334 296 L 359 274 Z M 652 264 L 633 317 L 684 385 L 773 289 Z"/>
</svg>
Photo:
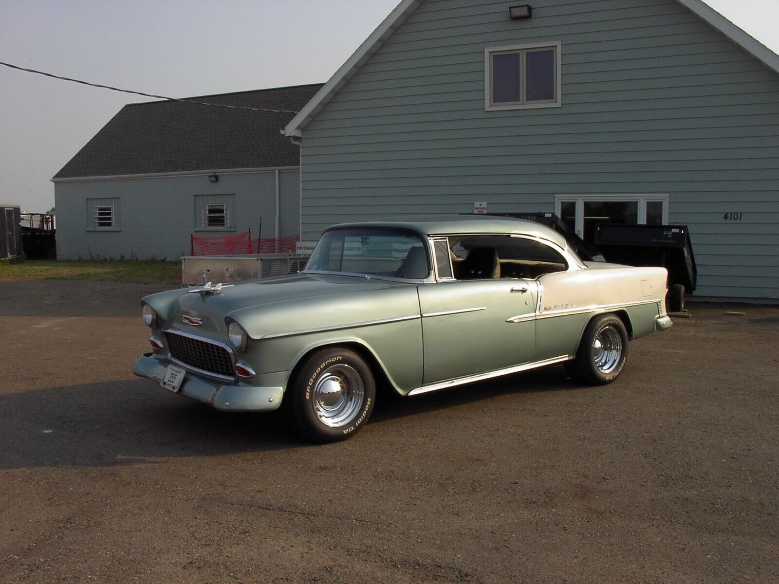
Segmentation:
<svg viewBox="0 0 779 584">
<path fill-rule="evenodd" d="M 360 412 L 365 385 L 354 368 L 337 364 L 326 368 L 312 389 L 311 401 L 317 419 L 329 427 L 349 424 Z"/>
</svg>

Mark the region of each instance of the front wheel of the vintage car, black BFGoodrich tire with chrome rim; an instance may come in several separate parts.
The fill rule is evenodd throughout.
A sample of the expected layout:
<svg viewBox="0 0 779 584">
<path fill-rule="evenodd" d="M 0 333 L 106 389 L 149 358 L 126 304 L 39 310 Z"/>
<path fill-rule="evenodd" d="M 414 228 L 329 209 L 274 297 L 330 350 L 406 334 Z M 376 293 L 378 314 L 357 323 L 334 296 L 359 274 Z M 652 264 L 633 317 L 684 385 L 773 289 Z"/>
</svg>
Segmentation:
<svg viewBox="0 0 779 584">
<path fill-rule="evenodd" d="M 305 357 L 287 387 L 290 415 L 299 434 L 337 442 L 356 434 L 373 410 L 371 368 L 353 350 L 332 347 Z"/>
</svg>

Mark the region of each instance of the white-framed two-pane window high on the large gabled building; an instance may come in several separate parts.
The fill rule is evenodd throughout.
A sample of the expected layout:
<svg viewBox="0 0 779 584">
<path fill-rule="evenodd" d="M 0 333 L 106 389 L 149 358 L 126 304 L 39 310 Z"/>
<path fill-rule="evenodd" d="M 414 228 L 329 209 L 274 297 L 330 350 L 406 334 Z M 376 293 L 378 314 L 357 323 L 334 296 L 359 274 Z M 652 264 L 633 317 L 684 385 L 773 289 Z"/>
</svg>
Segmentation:
<svg viewBox="0 0 779 584">
<path fill-rule="evenodd" d="M 560 43 L 485 50 L 485 110 L 559 107 Z"/>
</svg>

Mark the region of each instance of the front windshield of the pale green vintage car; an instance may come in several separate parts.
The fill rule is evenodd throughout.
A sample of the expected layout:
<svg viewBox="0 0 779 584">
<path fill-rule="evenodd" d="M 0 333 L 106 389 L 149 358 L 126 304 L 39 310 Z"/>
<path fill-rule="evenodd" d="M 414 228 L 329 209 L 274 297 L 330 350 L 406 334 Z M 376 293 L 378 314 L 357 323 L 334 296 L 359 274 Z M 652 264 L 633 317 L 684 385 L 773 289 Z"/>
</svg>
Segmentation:
<svg viewBox="0 0 779 584">
<path fill-rule="evenodd" d="M 421 237 L 393 229 L 336 229 L 323 234 L 306 272 L 424 280 L 430 273 Z"/>
</svg>

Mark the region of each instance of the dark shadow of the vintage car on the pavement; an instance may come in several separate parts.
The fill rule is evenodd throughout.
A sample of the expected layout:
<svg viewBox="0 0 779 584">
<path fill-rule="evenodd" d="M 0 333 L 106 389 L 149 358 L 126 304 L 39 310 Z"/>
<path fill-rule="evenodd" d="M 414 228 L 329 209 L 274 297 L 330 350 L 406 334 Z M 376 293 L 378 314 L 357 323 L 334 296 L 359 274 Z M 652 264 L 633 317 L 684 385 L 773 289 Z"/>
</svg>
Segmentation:
<svg viewBox="0 0 779 584">
<path fill-rule="evenodd" d="M 562 368 L 548 368 L 411 398 L 382 392 L 369 424 L 478 407 L 508 393 L 572 388 Z M 0 470 L 133 466 L 313 446 L 292 433 L 282 412 L 220 412 L 140 379 L 0 395 L 0 412 Z"/>
</svg>

